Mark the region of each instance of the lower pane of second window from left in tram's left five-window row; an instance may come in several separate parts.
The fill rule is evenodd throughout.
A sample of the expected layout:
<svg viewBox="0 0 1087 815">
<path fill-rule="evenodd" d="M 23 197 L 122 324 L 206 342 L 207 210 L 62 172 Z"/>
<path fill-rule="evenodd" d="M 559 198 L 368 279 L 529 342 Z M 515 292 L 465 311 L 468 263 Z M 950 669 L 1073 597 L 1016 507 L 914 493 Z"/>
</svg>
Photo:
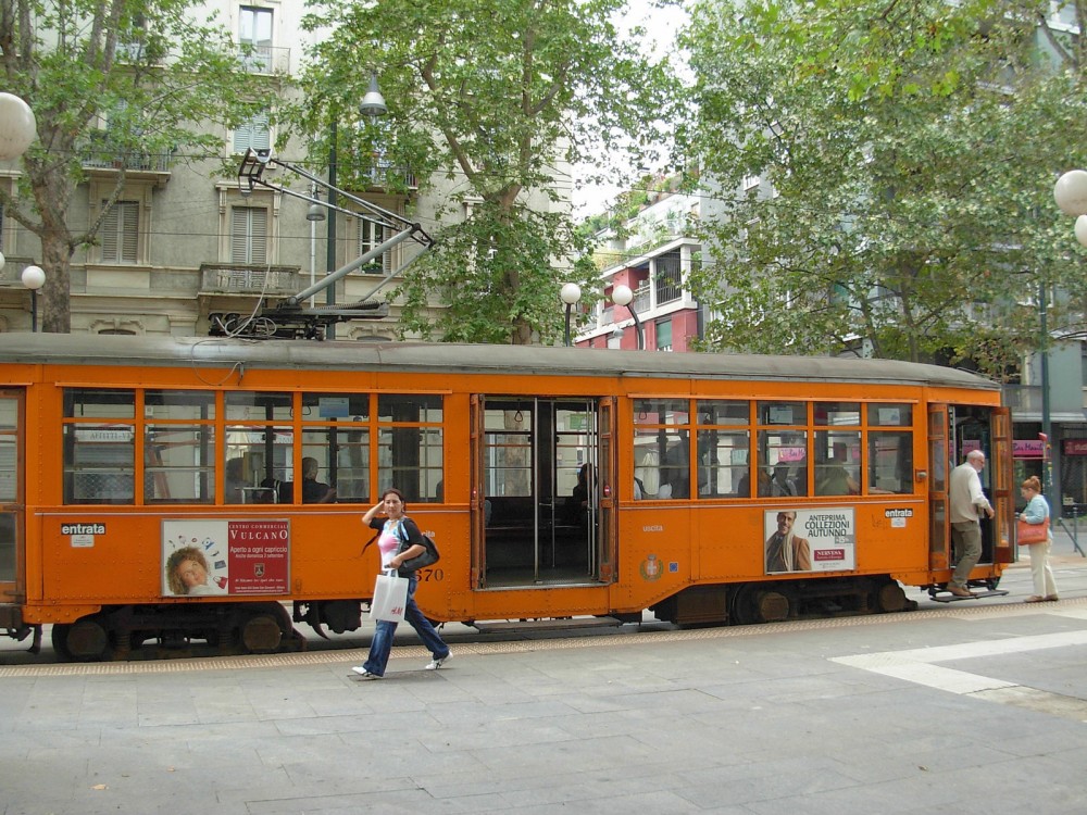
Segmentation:
<svg viewBox="0 0 1087 815">
<path fill-rule="evenodd" d="M 154 425 L 143 428 L 145 503 L 215 500 L 215 428 Z"/>
</svg>

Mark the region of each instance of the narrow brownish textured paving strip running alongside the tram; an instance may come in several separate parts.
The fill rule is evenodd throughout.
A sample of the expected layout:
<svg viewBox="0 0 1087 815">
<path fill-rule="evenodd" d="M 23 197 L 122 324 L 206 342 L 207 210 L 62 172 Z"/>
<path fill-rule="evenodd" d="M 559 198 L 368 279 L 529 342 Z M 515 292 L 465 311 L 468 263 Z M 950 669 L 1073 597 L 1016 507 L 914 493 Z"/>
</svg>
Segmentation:
<svg viewBox="0 0 1087 815">
<path fill-rule="evenodd" d="M 896 623 L 920 622 L 925 619 L 947 618 L 992 618 L 1021 617 L 1054 612 L 1087 610 L 1087 597 L 1062 599 L 1057 603 L 1024 604 L 1022 602 L 997 602 L 982 604 L 955 603 L 946 607 L 921 607 L 915 611 L 896 612 L 890 614 L 871 614 L 859 616 L 835 616 L 820 619 L 789 620 L 783 623 L 764 623 L 746 626 L 719 626 L 699 628 L 664 628 L 650 630 L 653 624 L 642 624 L 637 630 L 601 630 L 586 636 L 563 636 L 553 632 L 548 637 L 511 637 L 501 639 L 470 634 L 450 637 L 458 655 L 486 656 L 492 654 L 526 653 L 534 651 L 562 651 L 571 649 L 594 648 L 607 645 L 622 648 L 623 645 L 650 644 L 661 642 L 721 640 L 739 637 L 754 637 L 773 634 L 787 634 L 805 630 L 825 630 L 832 628 L 853 628 L 860 626 L 886 625 Z M 357 639 L 357 638 L 352 638 Z M 337 640 L 314 642 L 313 650 L 295 653 L 246 654 L 229 656 L 178 656 L 166 659 L 138 659 L 124 662 L 101 663 L 49 663 L 37 662 L 41 656 L 28 652 L 0 652 L 0 678 L 14 677 L 51 677 L 51 676 L 117 676 L 140 674 L 184 674 L 207 670 L 250 670 L 254 668 L 287 668 L 303 665 L 330 665 L 335 663 L 360 663 L 367 653 L 368 641 L 365 644 L 337 645 Z M 397 643 L 393 659 L 418 660 L 427 655 L 421 644 Z"/>
</svg>

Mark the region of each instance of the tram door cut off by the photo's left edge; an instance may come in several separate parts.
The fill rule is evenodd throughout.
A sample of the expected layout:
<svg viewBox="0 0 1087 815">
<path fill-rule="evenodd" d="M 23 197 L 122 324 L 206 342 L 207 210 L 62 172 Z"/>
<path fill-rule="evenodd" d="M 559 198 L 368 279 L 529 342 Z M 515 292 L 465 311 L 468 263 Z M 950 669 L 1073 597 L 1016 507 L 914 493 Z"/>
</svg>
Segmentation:
<svg viewBox="0 0 1087 815">
<path fill-rule="evenodd" d="M 0 390 L 0 626 L 3 606 L 23 601 L 23 485 L 20 482 L 23 394 Z"/>
</svg>

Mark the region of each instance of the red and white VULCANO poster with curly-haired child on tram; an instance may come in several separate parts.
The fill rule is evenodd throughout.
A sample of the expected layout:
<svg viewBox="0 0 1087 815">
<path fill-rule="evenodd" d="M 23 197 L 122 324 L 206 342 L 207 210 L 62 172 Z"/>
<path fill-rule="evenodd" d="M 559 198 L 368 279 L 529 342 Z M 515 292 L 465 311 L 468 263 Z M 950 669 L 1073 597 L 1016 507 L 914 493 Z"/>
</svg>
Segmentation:
<svg viewBox="0 0 1087 815">
<path fill-rule="evenodd" d="M 162 522 L 162 595 L 286 594 L 290 522 Z"/>
</svg>

